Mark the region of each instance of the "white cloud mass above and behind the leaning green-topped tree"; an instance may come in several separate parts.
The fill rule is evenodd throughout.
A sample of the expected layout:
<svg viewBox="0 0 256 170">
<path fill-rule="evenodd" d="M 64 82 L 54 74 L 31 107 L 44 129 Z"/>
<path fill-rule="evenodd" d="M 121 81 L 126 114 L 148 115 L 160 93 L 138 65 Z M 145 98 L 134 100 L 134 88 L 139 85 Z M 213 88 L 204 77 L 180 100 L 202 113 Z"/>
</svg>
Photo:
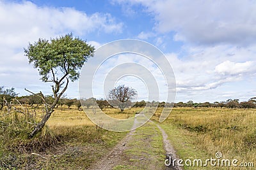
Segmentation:
<svg viewBox="0 0 256 170">
<path fill-rule="evenodd" d="M 74 36 L 122 32 L 123 24 L 116 22 L 109 13 L 88 15 L 74 8 L 36 6 L 30 1 L 21 3 L 0 0 L 0 80 L 1 85 L 15 87 L 21 95 L 24 88 L 49 92 L 49 84 L 42 83 L 40 76 L 24 57 L 23 48 L 38 38 L 55 38 L 72 32 Z M 99 43 L 90 41 L 95 47 Z M 19 82 L 17 82 L 19 78 Z M 77 83 L 77 82 L 76 82 Z M 68 91 L 77 96 L 77 84 L 70 83 Z M 73 87 L 73 88 L 72 88 Z M 51 87 L 50 87 L 51 88 Z M 72 91 L 73 90 L 73 91 Z"/>
</svg>

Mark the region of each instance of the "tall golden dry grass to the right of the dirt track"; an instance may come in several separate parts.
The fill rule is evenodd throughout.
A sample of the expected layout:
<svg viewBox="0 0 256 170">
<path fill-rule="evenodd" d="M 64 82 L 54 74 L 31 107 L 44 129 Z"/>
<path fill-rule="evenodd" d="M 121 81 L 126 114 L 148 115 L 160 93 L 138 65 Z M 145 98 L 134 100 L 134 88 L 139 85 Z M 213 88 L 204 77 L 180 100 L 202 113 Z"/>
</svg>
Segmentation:
<svg viewBox="0 0 256 170">
<path fill-rule="evenodd" d="M 188 143 L 192 144 L 190 147 L 205 153 L 201 155 L 204 159 L 221 152 L 225 159 L 255 164 L 255 113 L 253 109 L 174 108 L 163 126 L 175 125 L 177 131 L 188 138 Z"/>
</svg>

